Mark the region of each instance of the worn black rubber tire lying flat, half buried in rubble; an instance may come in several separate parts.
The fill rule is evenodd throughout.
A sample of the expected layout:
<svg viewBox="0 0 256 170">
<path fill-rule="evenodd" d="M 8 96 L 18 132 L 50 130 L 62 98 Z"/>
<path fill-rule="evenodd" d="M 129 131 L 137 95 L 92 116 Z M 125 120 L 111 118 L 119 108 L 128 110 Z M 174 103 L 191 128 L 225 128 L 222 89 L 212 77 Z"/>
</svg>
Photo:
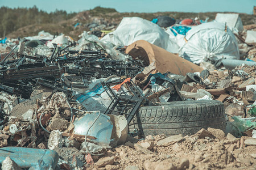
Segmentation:
<svg viewBox="0 0 256 170">
<path fill-rule="evenodd" d="M 141 107 L 129 131 L 138 129 L 142 135 L 192 135 L 202 128 L 225 131 L 224 105 L 216 100 L 173 101 L 151 107 Z M 138 124 L 139 122 L 139 124 Z"/>
</svg>

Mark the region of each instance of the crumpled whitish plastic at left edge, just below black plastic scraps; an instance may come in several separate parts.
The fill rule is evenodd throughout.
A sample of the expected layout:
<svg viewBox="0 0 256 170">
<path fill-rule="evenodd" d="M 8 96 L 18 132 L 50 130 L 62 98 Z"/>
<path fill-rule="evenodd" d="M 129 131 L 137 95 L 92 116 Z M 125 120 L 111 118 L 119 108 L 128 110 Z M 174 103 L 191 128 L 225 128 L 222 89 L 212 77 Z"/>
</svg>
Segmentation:
<svg viewBox="0 0 256 170">
<path fill-rule="evenodd" d="M 0 93 L 0 100 L 5 102 L 3 105 L 3 110 L 7 115 L 10 115 L 11 110 L 13 110 L 14 106 L 18 104 L 18 99 L 16 96 L 11 96 L 5 92 Z"/>
</svg>

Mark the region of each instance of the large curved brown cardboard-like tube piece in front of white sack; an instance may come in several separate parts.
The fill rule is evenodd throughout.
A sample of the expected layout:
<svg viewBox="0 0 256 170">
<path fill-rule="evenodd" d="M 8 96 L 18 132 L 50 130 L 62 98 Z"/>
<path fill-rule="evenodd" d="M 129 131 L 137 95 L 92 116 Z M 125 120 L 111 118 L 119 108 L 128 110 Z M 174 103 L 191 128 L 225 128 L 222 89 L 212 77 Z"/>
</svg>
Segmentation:
<svg viewBox="0 0 256 170">
<path fill-rule="evenodd" d="M 147 65 L 155 61 L 156 70 L 154 73 L 170 71 L 174 74 L 185 75 L 186 73 L 203 71 L 201 67 L 194 63 L 144 40 L 138 40 L 129 45 L 126 49 L 126 54 L 133 58 L 142 59 Z"/>
</svg>

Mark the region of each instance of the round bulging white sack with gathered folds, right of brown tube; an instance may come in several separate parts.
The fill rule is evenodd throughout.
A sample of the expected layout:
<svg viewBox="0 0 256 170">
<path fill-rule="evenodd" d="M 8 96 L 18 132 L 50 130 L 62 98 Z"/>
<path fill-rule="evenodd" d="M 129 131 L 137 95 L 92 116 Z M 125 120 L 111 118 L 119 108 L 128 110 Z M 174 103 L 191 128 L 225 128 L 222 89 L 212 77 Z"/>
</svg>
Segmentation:
<svg viewBox="0 0 256 170">
<path fill-rule="evenodd" d="M 194 26 L 184 38 L 179 56 L 193 63 L 221 58 L 239 59 L 236 37 L 224 23 L 210 22 Z"/>
</svg>

